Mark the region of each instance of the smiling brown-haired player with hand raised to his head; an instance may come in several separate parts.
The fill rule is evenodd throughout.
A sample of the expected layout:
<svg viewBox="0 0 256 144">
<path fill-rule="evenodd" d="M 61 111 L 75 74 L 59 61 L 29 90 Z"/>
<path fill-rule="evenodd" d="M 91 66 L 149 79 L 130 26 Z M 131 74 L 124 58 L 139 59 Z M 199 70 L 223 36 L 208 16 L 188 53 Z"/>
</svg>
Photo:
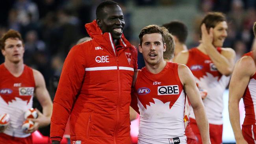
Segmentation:
<svg viewBox="0 0 256 144">
<path fill-rule="evenodd" d="M 195 76 L 198 88 L 206 90 L 207 96 L 203 103 L 210 124 L 211 143 L 221 144 L 223 92 L 234 68 L 235 52 L 232 48 L 221 48 L 228 29 L 223 13 L 208 13 L 200 26 L 202 40 L 199 46 L 180 52 L 174 62 L 187 65 Z M 193 111 L 190 125 L 202 144 Z"/>
</svg>

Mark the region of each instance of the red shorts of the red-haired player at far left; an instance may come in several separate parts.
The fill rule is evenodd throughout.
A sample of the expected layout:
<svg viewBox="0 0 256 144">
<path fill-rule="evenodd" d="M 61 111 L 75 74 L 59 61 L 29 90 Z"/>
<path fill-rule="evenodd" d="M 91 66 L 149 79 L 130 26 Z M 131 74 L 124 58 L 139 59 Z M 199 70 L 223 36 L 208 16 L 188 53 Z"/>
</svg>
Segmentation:
<svg viewBox="0 0 256 144">
<path fill-rule="evenodd" d="M 33 144 L 33 142 L 31 135 L 29 137 L 19 138 L 0 133 L 0 144 Z"/>
</svg>

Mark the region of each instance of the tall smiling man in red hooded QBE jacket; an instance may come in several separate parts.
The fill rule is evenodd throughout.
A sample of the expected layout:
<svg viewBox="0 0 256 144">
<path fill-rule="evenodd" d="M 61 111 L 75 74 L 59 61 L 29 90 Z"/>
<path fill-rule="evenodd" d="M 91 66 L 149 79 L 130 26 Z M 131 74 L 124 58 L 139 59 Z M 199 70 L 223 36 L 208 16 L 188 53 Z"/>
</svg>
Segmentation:
<svg viewBox="0 0 256 144">
<path fill-rule="evenodd" d="M 50 138 L 59 144 L 70 116 L 72 144 L 130 143 L 131 85 L 137 49 L 122 34 L 124 16 L 113 1 L 85 24 L 92 38 L 74 46 L 63 65 L 54 98 Z"/>
</svg>

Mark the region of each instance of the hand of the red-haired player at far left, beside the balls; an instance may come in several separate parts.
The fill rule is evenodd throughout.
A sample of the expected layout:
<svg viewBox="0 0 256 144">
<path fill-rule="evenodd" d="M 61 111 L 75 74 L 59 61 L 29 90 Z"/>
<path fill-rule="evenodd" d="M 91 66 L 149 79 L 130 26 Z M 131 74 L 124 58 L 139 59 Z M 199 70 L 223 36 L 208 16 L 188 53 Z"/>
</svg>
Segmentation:
<svg viewBox="0 0 256 144">
<path fill-rule="evenodd" d="M 39 127 L 44 127 L 50 124 L 50 118 L 43 115 L 38 109 L 36 109 L 38 117 L 37 118 L 28 118 L 28 120 L 31 120 L 34 122 L 34 126 L 25 131 L 25 133 L 33 133 L 36 131 Z"/>
</svg>

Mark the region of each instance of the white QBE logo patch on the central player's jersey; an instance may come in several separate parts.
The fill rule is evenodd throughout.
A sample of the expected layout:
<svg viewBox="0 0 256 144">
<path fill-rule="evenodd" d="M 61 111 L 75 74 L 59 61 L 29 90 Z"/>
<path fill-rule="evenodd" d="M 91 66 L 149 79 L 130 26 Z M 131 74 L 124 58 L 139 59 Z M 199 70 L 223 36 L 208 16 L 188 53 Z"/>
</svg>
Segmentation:
<svg viewBox="0 0 256 144">
<path fill-rule="evenodd" d="M 179 86 L 178 85 L 165 85 L 157 87 L 158 95 L 170 95 L 170 94 L 179 94 Z"/>
</svg>

